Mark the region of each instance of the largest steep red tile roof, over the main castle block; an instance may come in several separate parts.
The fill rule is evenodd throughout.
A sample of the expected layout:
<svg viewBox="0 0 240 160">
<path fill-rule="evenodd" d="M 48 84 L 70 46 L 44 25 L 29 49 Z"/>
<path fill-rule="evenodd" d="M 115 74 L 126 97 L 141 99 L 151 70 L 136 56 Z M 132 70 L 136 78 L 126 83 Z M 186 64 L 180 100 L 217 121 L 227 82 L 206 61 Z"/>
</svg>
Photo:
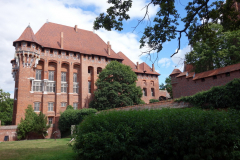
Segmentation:
<svg viewBox="0 0 240 160">
<path fill-rule="evenodd" d="M 92 31 L 77 29 L 76 32 L 74 27 L 48 22 L 36 33 L 36 38 L 43 47 L 61 49 L 61 32 L 63 32 L 63 50 L 122 59 L 112 49 L 111 54 L 108 55 L 107 44 Z"/>
</svg>

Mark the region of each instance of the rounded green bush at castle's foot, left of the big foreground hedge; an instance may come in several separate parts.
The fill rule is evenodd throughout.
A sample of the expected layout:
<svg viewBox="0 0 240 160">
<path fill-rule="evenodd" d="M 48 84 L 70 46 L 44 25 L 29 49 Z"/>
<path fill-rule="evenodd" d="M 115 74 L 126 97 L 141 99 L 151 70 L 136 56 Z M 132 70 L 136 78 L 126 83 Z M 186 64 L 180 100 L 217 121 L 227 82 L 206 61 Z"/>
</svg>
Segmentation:
<svg viewBox="0 0 240 160">
<path fill-rule="evenodd" d="M 68 109 L 64 111 L 58 121 L 59 130 L 61 133 L 71 130 L 71 125 L 79 124 L 84 116 L 96 113 L 96 109 L 84 108 L 81 110 Z"/>
</svg>

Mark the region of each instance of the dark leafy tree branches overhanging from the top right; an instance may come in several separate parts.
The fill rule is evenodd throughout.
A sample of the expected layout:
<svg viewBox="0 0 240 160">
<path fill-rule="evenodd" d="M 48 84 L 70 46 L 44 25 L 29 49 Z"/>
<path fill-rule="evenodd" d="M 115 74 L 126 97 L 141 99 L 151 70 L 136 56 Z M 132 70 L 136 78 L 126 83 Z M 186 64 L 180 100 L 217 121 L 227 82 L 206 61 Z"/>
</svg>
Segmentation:
<svg viewBox="0 0 240 160">
<path fill-rule="evenodd" d="M 107 13 L 101 13 L 94 21 L 94 29 L 105 28 L 106 30 L 115 29 L 121 31 L 123 29 L 123 21 L 130 19 L 128 11 L 132 7 L 132 0 L 108 0 L 112 4 L 107 9 Z M 148 18 L 148 9 L 150 5 L 158 6 L 159 11 L 153 19 L 152 26 L 148 25 L 145 28 L 143 36 L 140 40 L 140 48 L 147 46 L 150 49 L 145 53 L 152 51 L 160 52 L 163 48 L 163 43 L 178 39 L 178 48 L 174 53 L 178 53 L 181 45 L 181 38 L 185 34 L 189 39 L 189 44 L 194 43 L 198 35 L 206 34 L 211 37 L 214 34 L 209 28 L 208 23 L 218 23 L 223 25 L 224 31 L 236 30 L 239 28 L 240 19 L 239 13 L 236 11 L 235 2 L 240 0 L 192 0 L 185 7 L 186 16 L 180 17 L 176 10 L 175 0 L 150 0 L 145 6 L 145 16 L 139 20 L 136 27 L 146 18 Z M 178 21 L 184 23 L 181 27 Z M 202 20 L 203 24 L 199 24 Z M 135 28 L 136 28 L 135 27 Z M 194 40 L 193 40 L 194 37 Z M 173 54 L 173 55 L 174 55 Z M 173 56 L 172 55 L 172 56 Z"/>
</svg>

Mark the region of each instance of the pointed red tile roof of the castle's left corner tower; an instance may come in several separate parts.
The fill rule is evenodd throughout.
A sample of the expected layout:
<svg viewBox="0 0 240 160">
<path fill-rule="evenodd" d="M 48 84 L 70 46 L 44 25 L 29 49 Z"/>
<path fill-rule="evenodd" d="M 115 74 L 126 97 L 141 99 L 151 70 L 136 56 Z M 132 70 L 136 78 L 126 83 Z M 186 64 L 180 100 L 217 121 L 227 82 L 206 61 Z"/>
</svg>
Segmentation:
<svg viewBox="0 0 240 160">
<path fill-rule="evenodd" d="M 32 28 L 30 26 L 28 26 L 22 33 L 22 35 L 14 42 L 18 42 L 18 41 L 28 41 L 28 42 L 35 42 L 38 43 Z"/>
</svg>

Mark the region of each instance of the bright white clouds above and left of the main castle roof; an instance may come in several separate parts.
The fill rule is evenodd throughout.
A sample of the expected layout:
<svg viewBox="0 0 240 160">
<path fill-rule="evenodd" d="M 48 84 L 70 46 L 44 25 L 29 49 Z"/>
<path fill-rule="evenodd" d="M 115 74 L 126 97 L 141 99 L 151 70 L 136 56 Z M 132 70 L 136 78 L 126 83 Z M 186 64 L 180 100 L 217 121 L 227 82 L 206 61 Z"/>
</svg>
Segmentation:
<svg viewBox="0 0 240 160">
<path fill-rule="evenodd" d="M 73 0 L 74 1 L 74 0 Z M 73 2 L 70 0 L 70 2 Z M 84 11 L 77 7 L 68 7 L 67 1 L 60 0 L 8 0 L 0 1 L 0 88 L 5 92 L 10 92 L 13 97 L 14 81 L 11 75 L 10 60 L 14 56 L 13 41 L 18 39 L 24 29 L 30 23 L 34 33 L 48 19 L 50 22 L 74 26 L 78 25 L 81 29 L 92 30 L 93 21 L 98 16 L 98 13 Z M 106 0 L 102 1 L 83 1 L 90 5 L 90 2 L 100 8 L 105 5 Z M 144 2 L 144 3 L 143 3 Z M 134 2 L 135 3 L 135 2 Z M 145 4 L 142 0 L 141 3 Z M 133 8 L 134 9 L 134 8 Z M 136 9 L 137 10 L 137 9 Z M 133 62 L 141 62 L 139 55 L 139 42 L 137 35 L 134 33 L 119 33 L 116 31 L 99 30 L 96 32 L 105 42 L 110 41 L 115 52 L 122 51 Z"/>
</svg>

